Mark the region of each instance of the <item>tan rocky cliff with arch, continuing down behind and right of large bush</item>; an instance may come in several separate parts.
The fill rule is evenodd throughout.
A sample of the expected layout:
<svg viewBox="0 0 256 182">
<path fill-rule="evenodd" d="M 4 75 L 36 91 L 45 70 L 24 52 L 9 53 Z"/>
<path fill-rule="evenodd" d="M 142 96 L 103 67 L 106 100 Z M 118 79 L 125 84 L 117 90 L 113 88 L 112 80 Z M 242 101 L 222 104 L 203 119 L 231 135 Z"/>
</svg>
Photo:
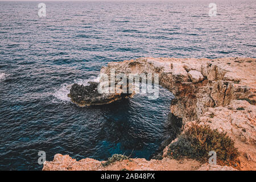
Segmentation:
<svg viewBox="0 0 256 182">
<path fill-rule="evenodd" d="M 101 73 L 110 75 L 111 69 L 125 74 L 157 73 L 159 85 L 175 95 L 171 112 L 183 119 L 184 127 L 197 122 L 226 131 L 241 152 L 241 169 L 255 169 L 256 59 L 146 57 L 110 62 Z M 57 169 L 52 165 L 54 161 L 46 162 L 43 169 Z"/>
</svg>

